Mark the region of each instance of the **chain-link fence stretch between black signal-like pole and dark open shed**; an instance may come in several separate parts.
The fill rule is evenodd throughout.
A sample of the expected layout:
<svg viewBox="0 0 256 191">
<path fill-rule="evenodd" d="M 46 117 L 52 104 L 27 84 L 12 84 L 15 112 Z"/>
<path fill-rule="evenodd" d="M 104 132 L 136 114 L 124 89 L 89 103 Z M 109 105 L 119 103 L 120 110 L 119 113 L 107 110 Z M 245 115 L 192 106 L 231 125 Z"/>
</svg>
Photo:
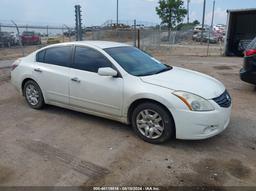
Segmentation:
<svg viewBox="0 0 256 191">
<path fill-rule="evenodd" d="M 145 51 L 168 51 L 170 55 L 220 56 L 223 55 L 223 40 L 195 40 L 192 30 L 171 31 L 155 28 L 116 29 L 86 32 L 86 40 L 123 42 Z"/>
</svg>

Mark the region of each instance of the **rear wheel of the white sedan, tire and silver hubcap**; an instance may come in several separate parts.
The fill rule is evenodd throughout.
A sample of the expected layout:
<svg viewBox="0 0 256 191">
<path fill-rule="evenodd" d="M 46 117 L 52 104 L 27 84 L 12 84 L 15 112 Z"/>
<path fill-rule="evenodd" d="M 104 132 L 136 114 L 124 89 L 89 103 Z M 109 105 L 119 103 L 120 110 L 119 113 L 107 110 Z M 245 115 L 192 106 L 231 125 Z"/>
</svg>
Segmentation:
<svg viewBox="0 0 256 191">
<path fill-rule="evenodd" d="M 25 83 L 23 94 L 31 108 L 39 110 L 45 105 L 41 88 L 35 81 L 29 80 Z"/>
</svg>

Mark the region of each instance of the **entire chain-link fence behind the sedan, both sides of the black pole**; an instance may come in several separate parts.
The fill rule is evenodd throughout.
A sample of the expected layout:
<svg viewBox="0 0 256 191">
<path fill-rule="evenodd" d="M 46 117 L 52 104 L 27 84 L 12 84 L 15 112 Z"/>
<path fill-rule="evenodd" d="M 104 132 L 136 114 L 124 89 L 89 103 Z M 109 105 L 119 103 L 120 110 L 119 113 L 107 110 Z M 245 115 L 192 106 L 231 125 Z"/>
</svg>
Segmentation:
<svg viewBox="0 0 256 191">
<path fill-rule="evenodd" d="M 15 22 L 0 22 L 0 59 L 25 55 L 43 46 L 75 41 L 75 31 L 65 24 L 28 25 Z M 134 27 L 136 26 L 136 27 Z M 144 51 L 167 51 L 169 55 L 220 56 L 223 41 L 198 40 L 192 30 L 171 31 L 160 27 L 125 25 L 125 28 L 87 27 L 83 40 L 103 40 L 127 43 Z M 15 57 L 13 56 L 13 57 Z"/>
</svg>

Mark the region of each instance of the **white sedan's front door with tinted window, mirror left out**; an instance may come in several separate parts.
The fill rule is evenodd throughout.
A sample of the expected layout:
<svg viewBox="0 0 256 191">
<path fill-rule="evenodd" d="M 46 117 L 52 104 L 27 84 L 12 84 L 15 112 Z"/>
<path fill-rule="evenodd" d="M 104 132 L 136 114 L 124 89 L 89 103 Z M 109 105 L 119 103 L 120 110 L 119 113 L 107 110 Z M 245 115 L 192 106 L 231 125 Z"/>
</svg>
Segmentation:
<svg viewBox="0 0 256 191">
<path fill-rule="evenodd" d="M 123 78 L 100 76 L 112 63 L 96 49 L 77 46 L 70 69 L 70 104 L 89 111 L 121 116 Z M 115 69 L 116 70 L 116 69 Z"/>
</svg>

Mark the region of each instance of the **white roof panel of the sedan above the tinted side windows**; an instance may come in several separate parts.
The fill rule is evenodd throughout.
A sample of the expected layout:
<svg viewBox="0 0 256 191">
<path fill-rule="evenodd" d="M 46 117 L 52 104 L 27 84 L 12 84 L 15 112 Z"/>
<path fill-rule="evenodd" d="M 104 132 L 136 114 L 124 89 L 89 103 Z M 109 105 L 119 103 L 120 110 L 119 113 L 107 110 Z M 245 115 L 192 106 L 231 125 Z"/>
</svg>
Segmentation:
<svg viewBox="0 0 256 191">
<path fill-rule="evenodd" d="M 94 46 L 100 49 L 130 46 L 128 44 L 111 42 L 111 41 L 76 41 L 76 42 L 59 43 L 59 44 L 51 45 L 49 47 L 63 46 L 63 45 L 82 45 L 82 46 L 88 45 L 88 46 Z"/>
</svg>

